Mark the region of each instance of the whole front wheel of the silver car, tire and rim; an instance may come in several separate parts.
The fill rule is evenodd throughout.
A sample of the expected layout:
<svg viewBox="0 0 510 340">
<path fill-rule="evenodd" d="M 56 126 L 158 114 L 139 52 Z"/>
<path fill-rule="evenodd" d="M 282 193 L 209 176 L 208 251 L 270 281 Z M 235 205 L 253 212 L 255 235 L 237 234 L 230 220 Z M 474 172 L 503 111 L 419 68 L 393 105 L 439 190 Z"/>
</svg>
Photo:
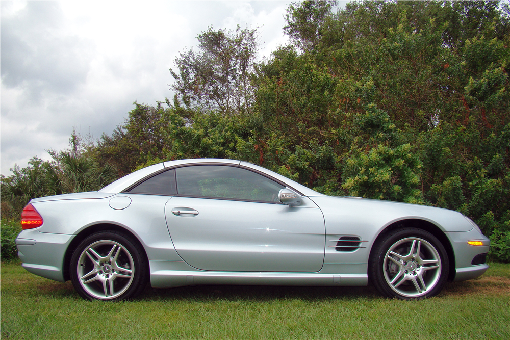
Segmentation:
<svg viewBox="0 0 510 340">
<path fill-rule="evenodd" d="M 374 246 L 369 275 L 382 295 L 403 300 L 436 296 L 448 278 L 448 255 L 431 233 L 417 228 L 388 232 Z"/>
</svg>

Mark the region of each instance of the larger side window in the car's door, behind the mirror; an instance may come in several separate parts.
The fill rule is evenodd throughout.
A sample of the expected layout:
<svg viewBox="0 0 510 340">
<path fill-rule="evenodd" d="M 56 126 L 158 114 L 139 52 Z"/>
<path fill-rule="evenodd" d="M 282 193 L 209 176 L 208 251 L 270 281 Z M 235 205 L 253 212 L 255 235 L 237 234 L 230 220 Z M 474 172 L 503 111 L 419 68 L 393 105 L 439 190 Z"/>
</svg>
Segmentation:
<svg viewBox="0 0 510 340">
<path fill-rule="evenodd" d="M 193 197 L 218 197 L 274 202 L 277 182 L 258 173 L 230 166 L 196 165 L 176 169 L 177 192 Z"/>
</svg>

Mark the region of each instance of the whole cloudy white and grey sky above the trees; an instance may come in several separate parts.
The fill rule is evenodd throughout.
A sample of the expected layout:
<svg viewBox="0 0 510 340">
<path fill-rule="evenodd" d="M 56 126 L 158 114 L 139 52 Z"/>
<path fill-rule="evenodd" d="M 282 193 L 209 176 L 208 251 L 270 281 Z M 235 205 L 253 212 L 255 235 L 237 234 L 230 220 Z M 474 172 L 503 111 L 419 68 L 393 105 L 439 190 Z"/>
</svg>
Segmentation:
<svg viewBox="0 0 510 340">
<path fill-rule="evenodd" d="M 2 169 L 63 149 L 73 127 L 111 134 L 133 108 L 172 97 L 169 68 L 209 26 L 259 27 L 285 44 L 289 2 L 2 2 Z"/>
</svg>

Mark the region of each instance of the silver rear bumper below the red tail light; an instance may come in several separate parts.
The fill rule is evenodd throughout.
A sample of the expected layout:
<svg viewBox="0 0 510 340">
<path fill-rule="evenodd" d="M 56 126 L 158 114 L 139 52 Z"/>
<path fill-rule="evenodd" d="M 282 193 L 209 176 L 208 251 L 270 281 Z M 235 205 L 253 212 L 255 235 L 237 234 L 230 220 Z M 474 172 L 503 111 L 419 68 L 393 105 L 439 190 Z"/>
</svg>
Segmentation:
<svg viewBox="0 0 510 340">
<path fill-rule="evenodd" d="M 65 252 L 74 235 L 39 232 L 36 229 L 21 231 L 16 239 L 22 266 L 32 274 L 64 282 Z"/>
</svg>

